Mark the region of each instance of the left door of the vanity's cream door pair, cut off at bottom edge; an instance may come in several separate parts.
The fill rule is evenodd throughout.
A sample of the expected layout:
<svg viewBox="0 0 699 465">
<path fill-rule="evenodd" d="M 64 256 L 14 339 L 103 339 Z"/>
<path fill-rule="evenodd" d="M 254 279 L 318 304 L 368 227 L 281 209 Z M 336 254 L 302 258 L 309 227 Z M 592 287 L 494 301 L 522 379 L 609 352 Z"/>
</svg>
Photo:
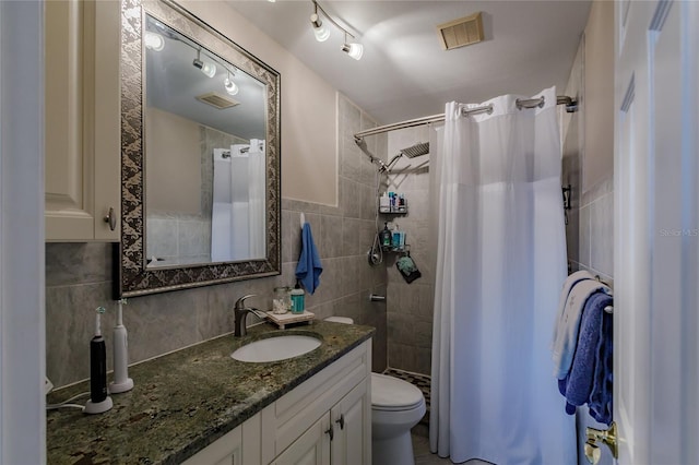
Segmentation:
<svg viewBox="0 0 699 465">
<path fill-rule="evenodd" d="M 336 431 L 337 428 L 334 429 Z M 328 465 L 331 443 L 330 414 L 323 415 L 300 438 L 272 462 L 272 465 Z"/>
</svg>

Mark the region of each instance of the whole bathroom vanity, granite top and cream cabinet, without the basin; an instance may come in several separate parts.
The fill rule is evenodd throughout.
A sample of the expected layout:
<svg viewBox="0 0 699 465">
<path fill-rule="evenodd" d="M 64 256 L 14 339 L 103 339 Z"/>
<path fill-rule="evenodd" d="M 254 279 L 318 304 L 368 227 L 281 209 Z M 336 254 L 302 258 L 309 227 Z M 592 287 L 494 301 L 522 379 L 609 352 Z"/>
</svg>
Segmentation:
<svg viewBox="0 0 699 465">
<path fill-rule="evenodd" d="M 374 331 L 331 322 L 283 331 L 262 324 L 245 337 L 225 335 L 135 365 L 135 388 L 112 395 L 111 410 L 47 414 L 48 462 L 370 463 Z M 313 335 L 322 344 L 273 362 L 230 357 L 276 333 Z M 49 403 L 84 391 L 87 382 L 51 393 Z"/>
</svg>

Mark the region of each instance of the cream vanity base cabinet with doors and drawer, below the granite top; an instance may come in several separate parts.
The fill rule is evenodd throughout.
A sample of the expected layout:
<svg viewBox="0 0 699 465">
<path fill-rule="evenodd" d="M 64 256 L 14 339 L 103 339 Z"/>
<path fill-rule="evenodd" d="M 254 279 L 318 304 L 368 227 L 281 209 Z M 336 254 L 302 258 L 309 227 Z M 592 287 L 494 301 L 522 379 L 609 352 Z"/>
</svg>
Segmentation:
<svg viewBox="0 0 699 465">
<path fill-rule="evenodd" d="M 370 383 L 369 339 L 185 463 L 370 465 Z"/>
</svg>

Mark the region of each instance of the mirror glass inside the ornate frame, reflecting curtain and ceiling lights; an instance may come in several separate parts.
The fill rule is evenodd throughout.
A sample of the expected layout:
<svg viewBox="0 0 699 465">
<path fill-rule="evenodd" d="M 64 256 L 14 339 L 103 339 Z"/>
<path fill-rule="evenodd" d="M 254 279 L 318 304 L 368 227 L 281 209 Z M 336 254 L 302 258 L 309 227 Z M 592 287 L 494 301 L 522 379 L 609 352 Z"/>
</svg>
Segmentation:
<svg viewBox="0 0 699 465">
<path fill-rule="evenodd" d="M 144 20 L 146 267 L 264 259 L 265 84 Z"/>
</svg>

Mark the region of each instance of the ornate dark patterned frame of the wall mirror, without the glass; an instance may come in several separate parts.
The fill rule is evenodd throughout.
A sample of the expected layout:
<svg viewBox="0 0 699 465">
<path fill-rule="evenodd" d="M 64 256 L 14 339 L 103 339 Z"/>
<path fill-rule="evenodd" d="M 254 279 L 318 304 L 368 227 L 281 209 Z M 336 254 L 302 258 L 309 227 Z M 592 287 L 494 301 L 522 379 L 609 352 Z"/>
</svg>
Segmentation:
<svg viewBox="0 0 699 465">
<path fill-rule="evenodd" d="M 240 262 L 145 267 L 145 98 L 142 34 L 145 14 L 191 37 L 266 84 L 266 258 Z M 121 3 L 121 243 L 116 294 L 133 297 L 281 273 L 281 78 L 233 40 L 170 0 Z"/>
</svg>

